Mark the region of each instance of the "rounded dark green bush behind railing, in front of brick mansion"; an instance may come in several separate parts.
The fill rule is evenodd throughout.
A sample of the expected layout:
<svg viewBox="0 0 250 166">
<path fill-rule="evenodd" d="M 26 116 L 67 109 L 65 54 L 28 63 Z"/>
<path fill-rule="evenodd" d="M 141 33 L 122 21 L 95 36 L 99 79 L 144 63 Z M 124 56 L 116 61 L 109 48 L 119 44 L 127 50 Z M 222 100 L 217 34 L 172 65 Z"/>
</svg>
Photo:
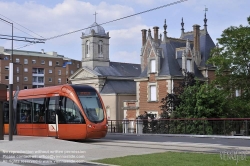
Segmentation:
<svg viewBox="0 0 250 166">
<path fill-rule="evenodd" d="M 174 112 L 174 118 L 226 118 L 227 112 L 224 91 L 213 85 L 196 84 L 185 89 L 180 95 L 181 103 Z"/>
</svg>

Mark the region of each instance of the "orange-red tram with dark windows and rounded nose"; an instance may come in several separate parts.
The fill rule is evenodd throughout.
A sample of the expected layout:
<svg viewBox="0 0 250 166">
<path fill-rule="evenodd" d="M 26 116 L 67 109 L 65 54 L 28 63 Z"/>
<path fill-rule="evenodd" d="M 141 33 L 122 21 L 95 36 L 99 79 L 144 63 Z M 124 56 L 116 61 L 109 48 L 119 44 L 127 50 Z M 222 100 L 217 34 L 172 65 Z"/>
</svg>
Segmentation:
<svg viewBox="0 0 250 166">
<path fill-rule="evenodd" d="M 67 140 L 98 139 L 107 134 L 105 107 L 93 87 L 66 84 L 16 91 L 13 96 L 14 134 Z M 9 103 L 3 107 L 4 133 L 8 134 Z"/>
</svg>

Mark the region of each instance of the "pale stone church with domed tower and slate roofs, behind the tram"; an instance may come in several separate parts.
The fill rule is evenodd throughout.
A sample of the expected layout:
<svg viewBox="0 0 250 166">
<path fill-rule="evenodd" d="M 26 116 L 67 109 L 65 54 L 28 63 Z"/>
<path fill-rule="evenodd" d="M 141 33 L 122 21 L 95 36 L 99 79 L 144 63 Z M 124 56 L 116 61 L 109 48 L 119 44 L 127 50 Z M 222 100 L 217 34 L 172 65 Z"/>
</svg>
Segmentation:
<svg viewBox="0 0 250 166">
<path fill-rule="evenodd" d="M 87 84 L 101 95 L 108 119 L 123 119 L 123 102 L 136 99 L 140 64 L 111 62 L 109 33 L 94 22 L 82 33 L 82 68 L 70 78 L 72 84 Z"/>
</svg>

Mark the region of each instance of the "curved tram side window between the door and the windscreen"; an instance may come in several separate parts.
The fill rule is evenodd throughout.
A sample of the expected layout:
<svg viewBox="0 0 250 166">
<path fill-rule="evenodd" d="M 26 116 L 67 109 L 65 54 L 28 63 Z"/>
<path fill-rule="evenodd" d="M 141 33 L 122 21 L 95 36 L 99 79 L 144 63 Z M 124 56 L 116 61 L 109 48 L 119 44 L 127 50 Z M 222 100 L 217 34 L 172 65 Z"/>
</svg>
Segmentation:
<svg viewBox="0 0 250 166">
<path fill-rule="evenodd" d="M 70 98 L 61 96 L 60 101 L 63 116 L 58 115 L 59 121 L 63 118 L 66 123 L 85 123 L 80 109 Z"/>
</svg>

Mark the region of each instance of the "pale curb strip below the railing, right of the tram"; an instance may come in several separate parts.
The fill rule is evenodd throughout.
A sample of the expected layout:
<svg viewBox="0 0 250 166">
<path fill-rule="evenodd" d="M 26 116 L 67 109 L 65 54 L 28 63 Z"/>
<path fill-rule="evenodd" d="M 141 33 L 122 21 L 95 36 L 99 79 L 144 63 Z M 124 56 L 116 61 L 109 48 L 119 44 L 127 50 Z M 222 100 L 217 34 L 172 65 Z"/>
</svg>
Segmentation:
<svg viewBox="0 0 250 166">
<path fill-rule="evenodd" d="M 226 139 L 249 139 L 249 140 L 250 140 L 250 136 L 223 136 L 223 135 L 133 134 L 133 133 L 108 133 L 108 135 L 124 135 L 124 136 L 163 136 L 163 137 L 195 137 L 195 138 L 226 138 Z"/>
</svg>

